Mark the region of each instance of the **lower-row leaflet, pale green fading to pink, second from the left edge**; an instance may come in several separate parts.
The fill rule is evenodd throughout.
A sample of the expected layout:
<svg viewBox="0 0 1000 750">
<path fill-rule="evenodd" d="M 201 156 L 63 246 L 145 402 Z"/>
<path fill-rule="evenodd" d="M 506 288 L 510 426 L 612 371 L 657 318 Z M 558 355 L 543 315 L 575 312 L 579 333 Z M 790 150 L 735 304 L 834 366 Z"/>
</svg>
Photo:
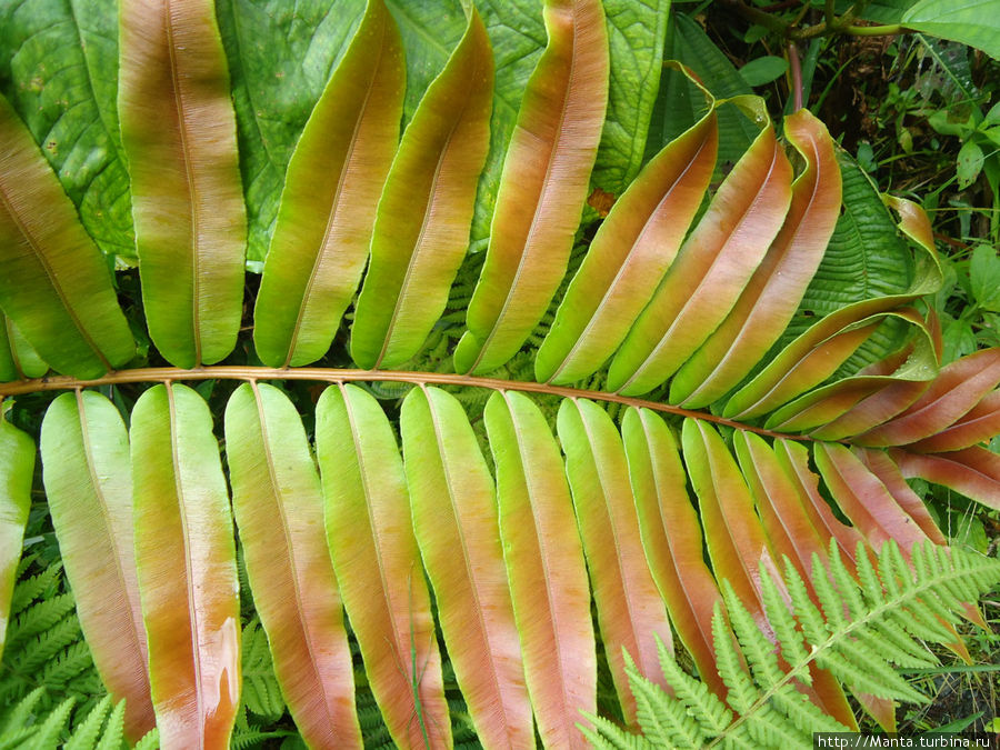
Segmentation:
<svg viewBox="0 0 1000 750">
<path fill-rule="evenodd" d="M 129 739 L 156 727 L 139 601 L 129 436 L 100 393 L 63 393 L 41 430 L 46 496 L 80 629 L 101 680 L 127 701 Z"/>
</svg>

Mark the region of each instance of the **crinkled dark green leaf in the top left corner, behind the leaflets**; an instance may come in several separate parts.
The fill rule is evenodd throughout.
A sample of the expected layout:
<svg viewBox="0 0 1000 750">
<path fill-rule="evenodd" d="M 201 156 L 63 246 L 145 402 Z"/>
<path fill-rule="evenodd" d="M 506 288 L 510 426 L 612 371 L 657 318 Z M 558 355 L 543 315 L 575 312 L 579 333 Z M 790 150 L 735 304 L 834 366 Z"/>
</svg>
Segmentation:
<svg viewBox="0 0 1000 750">
<path fill-rule="evenodd" d="M 108 256 L 136 257 L 118 129 L 118 3 L 0 4 L 0 90 Z M 29 86 L 18 82 L 30 81 Z"/>
</svg>

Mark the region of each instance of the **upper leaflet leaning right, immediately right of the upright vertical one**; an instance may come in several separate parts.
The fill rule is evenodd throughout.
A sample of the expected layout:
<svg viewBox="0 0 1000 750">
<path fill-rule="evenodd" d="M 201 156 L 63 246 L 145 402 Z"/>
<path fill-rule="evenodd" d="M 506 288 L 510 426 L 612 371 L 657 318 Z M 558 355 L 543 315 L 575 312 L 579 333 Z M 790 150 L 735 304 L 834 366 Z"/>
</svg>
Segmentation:
<svg viewBox="0 0 1000 750">
<path fill-rule="evenodd" d="M 253 311 L 266 364 L 308 364 L 330 348 L 368 259 L 404 74 L 392 17 L 370 0 L 289 163 Z"/>
</svg>

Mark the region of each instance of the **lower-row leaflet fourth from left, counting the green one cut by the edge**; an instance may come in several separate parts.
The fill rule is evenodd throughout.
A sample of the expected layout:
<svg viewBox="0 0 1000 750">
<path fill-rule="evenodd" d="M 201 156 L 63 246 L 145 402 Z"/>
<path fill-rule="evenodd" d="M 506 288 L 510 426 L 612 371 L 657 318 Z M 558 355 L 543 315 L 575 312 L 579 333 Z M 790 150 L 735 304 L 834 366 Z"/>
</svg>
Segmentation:
<svg viewBox="0 0 1000 750">
<path fill-rule="evenodd" d="M 232 509 L 253 604 L 302 738 L 360 748 L 351 652 L 302 422 L 277 388 L 244 383 L 226 407 Z"/>
</svg>

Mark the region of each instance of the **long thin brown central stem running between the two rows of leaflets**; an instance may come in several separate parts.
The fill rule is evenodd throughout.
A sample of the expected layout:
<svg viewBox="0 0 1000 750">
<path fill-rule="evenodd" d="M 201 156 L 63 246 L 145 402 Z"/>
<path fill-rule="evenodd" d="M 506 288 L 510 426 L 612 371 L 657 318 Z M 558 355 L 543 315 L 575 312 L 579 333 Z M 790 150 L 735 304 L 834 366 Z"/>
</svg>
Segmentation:
<svg viewBox="0 0 1000 750">
<path fill-rule="evenodd" d="M 752 427 L 736 422 L 731 419 L 717 417 L 709 412 L 692 411 L 690 409 L 681 409 L 669 403 L 659 403 L 657 401 L 647 401 L 644 399 L 634 399 L 628 396 L 619 396 L 618 393 L 608 393 L 604 391 L 586 390 L 582 388 L 566 388 L 563 386 L 549 386 L 546 383 L 536 383 L 527 380 L 501 380 L 497 378 L 477 378 L 472 376 L 461 376 L 454 373 L 442 372 L 409 372 L 399 370 L 337 370 L 332 368 L 309 368 L 300 367 L 292 369 L 270 368 L 270 367 L 244 367 L 217 364 L 213 367 L 200 367 L 193 370 L 182 370 L 180 368 L 161 367 L 161 368 L 137 368 L 134 370 L 118 370 L 109 372 L 100 378 L 92 380 L 79 380 L 70 376 L 52 376 L 50 378 L 38 378 L 36 380 L 19 380 L 9 383 L 0 383 L 0 401 L 7 396 L 18 396 L 22 393 L 36 393 L 39 391 L 61 391 L 73 390 L 77 388 L 89 388 L 93 386 L 108 386 L 116 383 L 136 383 L 136 382 L 162 382 L 170 383 L 179 380 L 316 380 L 330 383 L 344 383 L 357 381 L 369 382 L 403 382 L 422 386 L 433 383 L 438 386 L 466 386 L 470 388 L 488 388 L 494 391 L 524 391 L 529 393 L 544 393 L 549 396 L 561 396 L 566 398 L 582 398 L 594 401 L 608 401 L 612 403 L 621 403 L 629 407 L 646 408 L 653 411 L 662 411 L 670 414 L 681 417 L 690 417 L 700 419 L 716 424 L 724 424 L 736 430 L 756 432 L 758 434 L 768 436 L 770 438 L 796 438 L 797 440 L 811 440 L 806 436 L 790 436 L 782 432 L 773 432 L 760 427 Z"/>
</svg>

